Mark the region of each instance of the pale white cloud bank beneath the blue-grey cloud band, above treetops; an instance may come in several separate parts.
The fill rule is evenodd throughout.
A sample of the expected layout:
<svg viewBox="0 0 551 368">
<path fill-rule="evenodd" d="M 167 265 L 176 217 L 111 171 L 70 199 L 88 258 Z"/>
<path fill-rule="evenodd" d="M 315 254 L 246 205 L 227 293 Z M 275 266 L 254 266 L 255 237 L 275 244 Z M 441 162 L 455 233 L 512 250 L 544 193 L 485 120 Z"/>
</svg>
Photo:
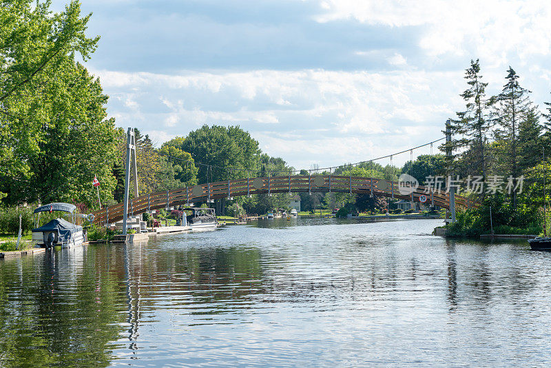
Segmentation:
<svg viewBox="0 0 551 368">
<path fill-rule="evenodd" d="M 448 82 L 461 82 L 459 72 L 96 74 L 108 94 L 133 91 L 137 111 L 110 101 L 118 125 L 137 126 L 163 143 L 202 124 L 238 124 L 262 150 L 295 167 L 363 161 L 426 143 L 461 105 L 457 86 Z"/>
</svg>

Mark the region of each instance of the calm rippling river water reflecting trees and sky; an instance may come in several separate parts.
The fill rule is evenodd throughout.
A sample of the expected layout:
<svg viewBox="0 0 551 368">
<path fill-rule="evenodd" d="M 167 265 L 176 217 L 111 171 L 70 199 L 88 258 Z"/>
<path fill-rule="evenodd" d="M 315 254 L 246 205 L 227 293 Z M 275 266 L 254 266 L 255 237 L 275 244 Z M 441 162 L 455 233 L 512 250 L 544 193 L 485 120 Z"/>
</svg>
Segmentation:
<svg viewBox="0 0 551 368">
<path fill-rule="evenodd" d="M 551 365 L 551 254 L 269 220 L 0 260 L 0 366 Z"/>
</svg>

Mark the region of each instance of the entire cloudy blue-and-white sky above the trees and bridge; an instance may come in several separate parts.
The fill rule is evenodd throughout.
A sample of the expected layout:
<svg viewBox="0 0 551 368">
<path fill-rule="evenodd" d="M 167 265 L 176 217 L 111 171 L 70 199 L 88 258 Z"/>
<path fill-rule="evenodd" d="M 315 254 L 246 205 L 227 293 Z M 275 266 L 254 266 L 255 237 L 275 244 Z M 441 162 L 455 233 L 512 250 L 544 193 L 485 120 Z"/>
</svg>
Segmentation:
<svg viewBox="0 0 551 368">
<path fill-rule="evenodd" d="M 391 154 L 442 136 L 477 58 L 489 93 L 511 65 L 551 101 L 549 0 L 82 3 L 110 116 L 158 145 L 216 123 L 298 168 Z"/>
</svg>

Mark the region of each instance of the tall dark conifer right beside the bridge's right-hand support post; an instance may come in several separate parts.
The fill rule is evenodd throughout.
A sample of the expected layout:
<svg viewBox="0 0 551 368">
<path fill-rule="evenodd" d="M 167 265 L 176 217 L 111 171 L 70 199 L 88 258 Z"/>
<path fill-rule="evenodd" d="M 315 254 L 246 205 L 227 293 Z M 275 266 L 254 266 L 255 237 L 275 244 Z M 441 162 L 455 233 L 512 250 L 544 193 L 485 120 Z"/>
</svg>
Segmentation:
<svg viewBox="0 0 551 368">
<path fill-rule="evenodd" d="M 460 96 L 466 101 L 466 110 L 456 112 L 457 119 L 451 123 L 452 139 L 449 143 L 440 146 L 446 151 L 449 149 L 453 155 L 448 157 L 448 168 L 459 168 L 462 174 L 481 175 L 487 173 L 487 138 L 490 130 L 490 105 L 492 99 L 486 99 L 486 86 L 482 82 L 479 59 L 470 61 L 470 67 L 466 69 L 465 79 L 468 89 Z M 459 152 L 459 153 L 455 153 Z M 460 174 L 457 172 L 457 174 Z"/>
</svg>

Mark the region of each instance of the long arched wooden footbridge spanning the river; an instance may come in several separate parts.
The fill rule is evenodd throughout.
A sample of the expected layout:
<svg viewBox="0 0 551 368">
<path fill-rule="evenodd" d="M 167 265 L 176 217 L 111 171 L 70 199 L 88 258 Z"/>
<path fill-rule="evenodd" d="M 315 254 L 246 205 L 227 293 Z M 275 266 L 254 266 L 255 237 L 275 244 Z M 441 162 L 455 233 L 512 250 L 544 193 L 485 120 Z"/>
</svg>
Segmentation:
<svg viewBox="0 0 551 368">
<path fill-rule="evenodd" d="M 152 209 L 186 205 L 187 203 L 202 202 L 209 199 L 247 196 L 250 194 L 295 192 L 373 194 L 375 196 L 405 199 L 406 201 L 419 201 L 419 196 L 425 195 L 427 197 L 426 203 L 429 205 L 433 203 L 446 209 L 450 207 L 450 195 L 444 191 L 431 192 L 426 187 L 419 186 L 412 194 L 403 195 L 399 193 L 396 181 L 356 176 L 315 175 L 232 179 L 145 194 L 129 201 L 128 214 L 141 214 Z M 479 204 L 456 194 L 455 205 L 477 207 Z M 94 214 L 94 223 L 99 224 L 119 221 L 123 218 L 123 212 L 123 203 L 118 203 L 92 213 Z"/>
</svg>

